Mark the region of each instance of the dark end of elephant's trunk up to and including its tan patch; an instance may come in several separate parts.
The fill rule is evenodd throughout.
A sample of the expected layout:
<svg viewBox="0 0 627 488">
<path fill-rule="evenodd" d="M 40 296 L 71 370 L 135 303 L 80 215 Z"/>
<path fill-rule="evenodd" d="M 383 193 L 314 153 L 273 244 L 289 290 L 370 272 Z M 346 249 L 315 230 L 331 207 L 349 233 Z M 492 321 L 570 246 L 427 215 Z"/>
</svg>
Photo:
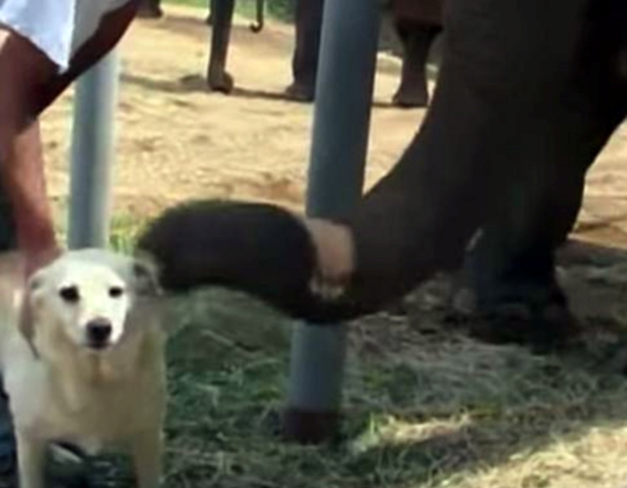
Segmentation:
<svg viewBox="0 0 627 488">
<path fill-rule="evenodd" d="M 318 323 L 356 313 L 335 294 L 351 272 L 344 228 L 306 221 L 275 206 L 183 204 L 152 222 L 137 250 L 155 259 L 161 285 L 170 293 L 232 287 Z"/>
</svg>

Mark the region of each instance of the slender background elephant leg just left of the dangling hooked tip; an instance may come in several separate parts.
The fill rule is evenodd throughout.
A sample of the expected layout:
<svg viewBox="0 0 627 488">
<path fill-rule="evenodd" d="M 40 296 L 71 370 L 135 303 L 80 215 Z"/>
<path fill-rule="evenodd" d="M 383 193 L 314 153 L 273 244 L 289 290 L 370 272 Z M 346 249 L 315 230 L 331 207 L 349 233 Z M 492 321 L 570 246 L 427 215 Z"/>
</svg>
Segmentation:
<svg viewBox="0 0 627 488">
<path fill-rule="evenodd" d="M 216 92 L 230 93 L 233 77 L 226 72 L 231 26 L 233 24 L 234 0 L 211 0 L 211 53 L 207 68 L 207 84 Z"/>
</svg>

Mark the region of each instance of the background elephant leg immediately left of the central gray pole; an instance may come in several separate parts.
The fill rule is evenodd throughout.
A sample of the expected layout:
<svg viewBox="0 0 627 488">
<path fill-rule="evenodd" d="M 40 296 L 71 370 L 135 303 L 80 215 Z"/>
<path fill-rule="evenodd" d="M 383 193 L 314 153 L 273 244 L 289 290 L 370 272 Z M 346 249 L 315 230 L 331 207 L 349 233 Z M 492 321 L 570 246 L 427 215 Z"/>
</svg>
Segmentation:
<svg viewBox="0 0 627 488">
<path fill-rule="evenodd" d="M 285 90 L 285 95 L 293 100 L 314 100 L 323 9 L 324 0 L 296 0 L 293 82 Z"/>
</svg>

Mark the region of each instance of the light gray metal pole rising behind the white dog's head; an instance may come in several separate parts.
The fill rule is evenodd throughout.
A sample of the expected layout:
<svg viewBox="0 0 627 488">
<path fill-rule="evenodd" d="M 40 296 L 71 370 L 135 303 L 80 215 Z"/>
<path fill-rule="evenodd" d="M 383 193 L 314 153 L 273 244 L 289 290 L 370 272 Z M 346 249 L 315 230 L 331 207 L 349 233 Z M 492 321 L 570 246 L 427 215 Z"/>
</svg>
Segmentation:
<svg viewBox="0 0 627 488">
<path fill-rule="evenodd" d="M 113 50 L 76 82 L 68 247 L 105 247 L 119 60 Z"/>
</svg>

